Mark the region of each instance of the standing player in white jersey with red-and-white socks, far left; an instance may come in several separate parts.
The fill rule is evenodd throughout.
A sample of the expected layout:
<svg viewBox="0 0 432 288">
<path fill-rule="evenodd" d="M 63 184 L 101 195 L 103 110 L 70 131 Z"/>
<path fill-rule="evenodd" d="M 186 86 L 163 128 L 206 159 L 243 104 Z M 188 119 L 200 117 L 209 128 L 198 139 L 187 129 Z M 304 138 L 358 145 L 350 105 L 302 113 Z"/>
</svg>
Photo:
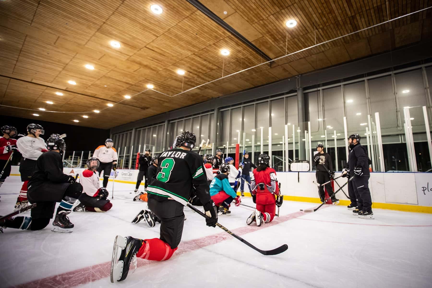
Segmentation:
<svg viewBox="0 0 432 288">
<path fill-rule="evenodd" d="M 43 152 L 48 151 L 44 139 L 39 137 L 40 135 L 44 135 L 44 132 L 44 127 L 32 123 L 27 126 L 27 136 L 21 137 L 16 141 L 16 146 L 22 155 L 19 164 L 19 173 L 21 174 L 21 181 L 24 183 L 16 199 L 15 211 L 29 203 L 27 199 L 27 184 L 32 177 L 36 160 L 38 160 Z"/>
</svg>

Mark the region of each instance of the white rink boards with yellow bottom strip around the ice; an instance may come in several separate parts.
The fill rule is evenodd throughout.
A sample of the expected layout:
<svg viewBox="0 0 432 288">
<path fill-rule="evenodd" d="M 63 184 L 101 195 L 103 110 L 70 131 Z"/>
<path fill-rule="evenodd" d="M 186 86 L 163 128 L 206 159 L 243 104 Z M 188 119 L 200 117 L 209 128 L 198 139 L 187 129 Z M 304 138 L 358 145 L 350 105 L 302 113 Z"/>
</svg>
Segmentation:
<svg viewBox="0 0 432 288">
<path fill-rule="evenodd" d="M 12 166 L 11 175 L 19 175 L 19 166 Z M 64 168 L 64 173 L 76 175 L 84 168 Z M 135 184 L 138 170 L 116 170 L 115 182 Z M 339 176 L 336 173 L 336 176 Z M 111 171 L 112 181 L 114 171 Z M 284 199 L 290 201 L 319 203 L 318 188 L 312 181 L 316 181 L 314 172 L 277 172 L 278 181 Z M 102 180 L 102 178 L 101 178 Z M 337 179 L 341 186 L 346 178 Z M 141 183 L 143 185 L 144 182 Z M 334 185 L 335 190 L 339 187 Z M 373 208 L 392 209 L 409 212 L 432 213 L 432 174 L 431 173 L 371 173 L 369 189 L 372 194 Z M 245 185 L 245 192 L 248 192 Z M 348 188 L 343 191 L 348 195 Z M 248 193 L 246 193 L 248 195 Z M 349 199 L 342 191 L 337 193 L 341 205 L 348 205 Z"/>
</svg>

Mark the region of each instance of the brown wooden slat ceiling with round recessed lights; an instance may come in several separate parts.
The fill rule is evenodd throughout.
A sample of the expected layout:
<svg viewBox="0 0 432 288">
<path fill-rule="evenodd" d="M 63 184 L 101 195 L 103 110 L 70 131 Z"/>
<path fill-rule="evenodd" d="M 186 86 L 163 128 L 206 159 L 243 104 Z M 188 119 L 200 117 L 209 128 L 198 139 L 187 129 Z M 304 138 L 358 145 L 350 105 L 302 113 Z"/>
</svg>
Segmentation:
<svg viewBox="0 0 432 288">
<path fill-rule="evenodd" d="M 102 110 L 147 84 L 175 95 L 265 60 L 185 0 L 0 1 L 0 104 Z M 261 51 L 276 58 L 432 6 L 431 0 L 201 0 Z M 387 4 L 386 4 L 387 3 Z M 429 41 L 432 9 L 340 38 L 204 85 L 174 98 L 148 90 L 99 114 L 0 113 L 108 129 L 315 69 Z M 287 28 L 295 19 L 298 25 Z M 110 41 L 121 43 L 115 49 Z M 231 52 L 222 56 L 222 48 Z M 94 70 L 87 70 L 90 64 Z M 186 71 L 179 76 L 176 70 Z M 67 81 L 73 80 L 76 85 Z M 62 92 L 63 96 L 55 95 Z M 46 104 L 53 101 L 54 104 Z M 32 116 L 37 113 L 40 116 Z M 78 119 L 79 123 L 72 122 Z M 13 124 L 13 123 L 12 123 Z"/>
</svg>

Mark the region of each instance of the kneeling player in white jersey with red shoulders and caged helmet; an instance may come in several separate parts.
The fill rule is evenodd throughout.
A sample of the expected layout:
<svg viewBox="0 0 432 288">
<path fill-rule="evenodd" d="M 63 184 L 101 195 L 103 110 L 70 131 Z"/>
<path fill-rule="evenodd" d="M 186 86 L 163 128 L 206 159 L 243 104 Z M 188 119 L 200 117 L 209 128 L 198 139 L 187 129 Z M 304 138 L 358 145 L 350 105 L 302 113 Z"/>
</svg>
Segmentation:
<svg viewBox="0 0 432 288">
<path fill-rule="evenodd" d="M 74 212 L 105 212 L 112 204 L 107 199 L 108 190 L 99 188 L 99 177 L 96 170 L 99 167 L 98 158 L 87 160 L 87 169 L 79 174 L 79 183 L 83 185 L 83 193 L 79 196 L 79 203 L 73 208 Z"/>
</svg>

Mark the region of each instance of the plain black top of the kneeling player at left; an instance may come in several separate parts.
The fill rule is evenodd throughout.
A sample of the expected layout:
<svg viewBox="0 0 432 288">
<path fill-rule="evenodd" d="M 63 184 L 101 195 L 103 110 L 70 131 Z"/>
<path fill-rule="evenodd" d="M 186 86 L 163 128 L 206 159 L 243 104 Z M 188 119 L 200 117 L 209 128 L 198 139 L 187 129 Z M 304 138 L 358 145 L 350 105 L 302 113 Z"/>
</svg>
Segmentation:
<svg viewBox="0 0 432 288">
<path fill-rule="evenodd" d="M 70 177 L 63 173 L 63 161 L 61 154 L 54 151 L 44 152 L 36 160 L 32 178 L 29 181 L 29 189 L 36 189 L 44 182 L 67 183 Z"/>
</svg>

